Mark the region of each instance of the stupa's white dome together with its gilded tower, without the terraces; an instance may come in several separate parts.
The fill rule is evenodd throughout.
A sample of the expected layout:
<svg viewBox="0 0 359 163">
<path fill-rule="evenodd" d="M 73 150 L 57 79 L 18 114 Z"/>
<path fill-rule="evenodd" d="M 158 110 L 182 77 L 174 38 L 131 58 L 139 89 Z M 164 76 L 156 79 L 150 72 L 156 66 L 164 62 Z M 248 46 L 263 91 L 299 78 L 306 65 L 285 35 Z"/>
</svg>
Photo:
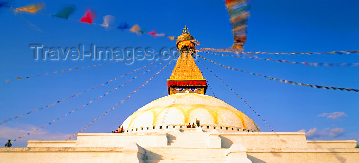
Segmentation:
<svg viewBox="0 0 359 163">
<path fill-rule="evenodd" d="M 203 79 L 192 57 L 195 54 L 193 40 L 185 27 L 177 39 L 181 56 L 170 79 L 167 79 L 169 96 L 152 101 L 129 116 L 121 125 L 125 132 L 179 131 L 187 128 L 189 123 L 192 126 L 197 119 L 201 123 L 200 129 L 206 132 L 217 128 L 229 128 L 228 132 L 260 131 L 253 120 L 241 111 L 205 95 L 206 79 Z"/>
</svg>

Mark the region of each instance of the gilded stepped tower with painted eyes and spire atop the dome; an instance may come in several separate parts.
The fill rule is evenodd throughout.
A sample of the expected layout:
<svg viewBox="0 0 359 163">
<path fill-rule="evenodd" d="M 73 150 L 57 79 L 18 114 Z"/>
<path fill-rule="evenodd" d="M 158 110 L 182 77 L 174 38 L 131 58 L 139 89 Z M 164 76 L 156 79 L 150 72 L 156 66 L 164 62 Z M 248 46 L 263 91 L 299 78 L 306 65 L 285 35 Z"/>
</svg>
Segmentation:
<svg viewBox="0 0 359 163">
<path fill-rule="evenodd" d="M 167 79 L 169 95 L 176 93 L 206 93 L 206 79 L 202 77 L 202 73 L 192 57 L 196 53 L 194 41 L 194 37 L 189 34 L 188 28 L 185 26 L 176 43 L 181 56 L 177 60 L 170 79 Z"/>
</svg>

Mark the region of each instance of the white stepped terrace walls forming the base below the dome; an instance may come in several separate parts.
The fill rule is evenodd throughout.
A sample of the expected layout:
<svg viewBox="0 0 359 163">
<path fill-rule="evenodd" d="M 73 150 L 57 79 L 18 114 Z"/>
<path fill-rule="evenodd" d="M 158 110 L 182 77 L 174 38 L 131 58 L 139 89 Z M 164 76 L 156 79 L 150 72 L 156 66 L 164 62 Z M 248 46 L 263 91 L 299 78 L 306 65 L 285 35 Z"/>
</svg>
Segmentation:
<svg viewBox="0 0 359 163">
<path fill-rule="evenodd" d="M 205 131 L 205 130 L 202 130 Z M 307 141 L 298 132 L 80 133 L 73 141 L 0 148 L 4 162 L 356 162 L 356 141 Z"/>
</svg>

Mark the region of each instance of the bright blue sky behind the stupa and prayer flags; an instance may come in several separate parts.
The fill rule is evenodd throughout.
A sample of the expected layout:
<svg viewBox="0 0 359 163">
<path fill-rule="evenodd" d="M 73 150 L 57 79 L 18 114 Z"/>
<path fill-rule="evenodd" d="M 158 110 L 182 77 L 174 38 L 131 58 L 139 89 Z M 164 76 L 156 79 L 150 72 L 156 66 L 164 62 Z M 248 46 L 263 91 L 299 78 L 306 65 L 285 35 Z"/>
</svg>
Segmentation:
<svg viewBox="0 0 359 163">
<path fill-rule="evenodd" d="M 38 1 L 34 1 L 36 3 Z M 36 14 L 16 15 L 9 8 L 0 9 L 0 119 L 4 120 L 27 113 L 39 107 L 56 103 L 74 94 L 91 89 L 110 79 L 126 74 L 149 64 L 149 61 L 135 61 L 132 65 L 122 62 L 56 73 L 44 76 L 46 72 L 61 71 L 75 67 L 103 64 L 104 60 L 38 60 L 33 59 L 30 44 L 44 47 L 78 47 L 91 44 L 98 47 L 152 47 L 155 52 L 163 47 L 175 47 L 175 40 L 153 38 L 147 34 L 117 29 L 105 30 L 98 25 L 78 22 L 84 9 L 91 7 L 101 24 L 102 17 L 116 17 L 114 26 L 121 21 L 130 26 L 139 24 L 150 32 L 156 29 L 167 35 L 178 36 L 185 25 L 191 35 L 201 42 L 197 48 L 228 48 L 233 43 L 229 16 L 223 1 L 76 1 L 77 11 L 71 20 L 47 16 L 55 14 L 64 4 L 71 1 L 43 1 L 44 10 Z M 14 1 L 13 7 L 30 4 L 29 1 Z M 358 50 L 359 7 L 357 1 L 253 1 L 248 22 L 248 39 L 244 51 L 301 53 L 341 50 Z M 77 20 L 77 21 L 76 21 Z M 36 30 L 28 22 L 35 25 Z M 301 83 L 323 86 L 359 89 L 358 67 L 314 67 L 264 60 L 220 57 L 200 53 L 218 63 L 242 70 L 252 71 Z M 266 55 L 260 58 L 293 60 L 302 62 L 358 63 L 358 54 L 343 55 Z M 308 132 L 308 139 L 315 140 L 358 140 L 359 93 L 315 89 L 293 86 L 262 77 L 236 72 L 200 61 L 220 76 L 232 89 L 244 98 L 276 132 Z M 18 139 L 14 147 L 26 146 L 27 140 L 63 140 L 91 123 L 96 117 L 113 107 L 128 94 L 152 77 L 167 62 L 150 72 L 130 81 L 125 86 L 99 98 L 81 110 L 56 120 L 56 123 Z M 138 108 L 162 97 L 166 92 L 166 79 L 174 67 L 172 63 L 145 87 L 137 91 L 126 102 L 110 114 L 98 120 L 84 132 L 111 132 Z M 243 101 L 233 94 L 215 76 L 198 64 L 215 95 L 248 115 L 263 132 L 271 131 Z M 44 126 L 58 117 L 72 111 L 88 101 L 122 85 L 145 70 L 132 73 L 117 81 L 93 89 L 85 94 L 70 98 L 55 106 L 31 113 L 0 125 L 0 142 L 15 139 Z M 16 76 L 40 77 L 16 80 Z M 6 79 L 11 79 L 5 83 Z M 207 91 L 207 95 L 212 95 Z M 327 114 L 323 114 L 327 113 Z M 344 113 L 344 114 L 343 114 Z"/>
</svg>

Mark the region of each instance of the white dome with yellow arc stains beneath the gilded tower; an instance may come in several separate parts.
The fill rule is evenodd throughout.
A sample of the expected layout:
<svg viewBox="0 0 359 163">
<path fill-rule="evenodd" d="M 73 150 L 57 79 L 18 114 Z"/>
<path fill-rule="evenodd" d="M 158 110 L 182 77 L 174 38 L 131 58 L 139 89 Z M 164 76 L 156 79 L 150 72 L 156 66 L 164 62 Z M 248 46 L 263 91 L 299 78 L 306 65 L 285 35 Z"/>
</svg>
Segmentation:
<svg viewBox="0 0 359 163">
<path fill-rule="evenodd" d="M 121 126 L 130 129 L 153 125 L 192 124 L 196 118 L 201 124 L 260 131 L 252 119 L 224 101 L 196 93 L 177 93 L 154 100 L 134 112 Z"/>
</svg>

